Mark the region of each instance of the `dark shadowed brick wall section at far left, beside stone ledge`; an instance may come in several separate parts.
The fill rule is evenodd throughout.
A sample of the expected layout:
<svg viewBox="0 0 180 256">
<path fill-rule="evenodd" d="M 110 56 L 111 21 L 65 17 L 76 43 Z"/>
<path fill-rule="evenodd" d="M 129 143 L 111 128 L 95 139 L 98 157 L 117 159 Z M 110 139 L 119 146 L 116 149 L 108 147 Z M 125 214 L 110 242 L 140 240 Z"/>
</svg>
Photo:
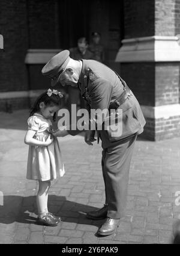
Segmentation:
<svg viewBox="0 0 180 256">
<path fill-rule="evenodd" d="M 1 0 L 0 34 L 4 49 L 0 52 L 0 92 L 28 89 L 24 63 L 28 49 L 26 0 Z"/>
</svg>

